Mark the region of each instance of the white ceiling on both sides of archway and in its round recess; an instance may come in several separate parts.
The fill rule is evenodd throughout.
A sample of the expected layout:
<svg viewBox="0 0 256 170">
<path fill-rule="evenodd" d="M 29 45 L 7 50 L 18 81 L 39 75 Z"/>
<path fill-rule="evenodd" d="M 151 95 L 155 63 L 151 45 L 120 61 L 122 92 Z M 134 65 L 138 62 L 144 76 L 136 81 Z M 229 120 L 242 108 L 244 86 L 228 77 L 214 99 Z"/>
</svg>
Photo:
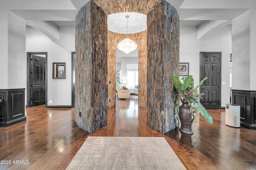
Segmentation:
<svg viewBox="0 0 256 170">
<path fill-rule="evenodd" d="M 58 27 L 74 27 L 76 14 L 89 0 L 0 0 L 0 10 L 10 10 L 32 21 L 52 21 Z M 180 27 L 197 27 L 209 20 L 232 20 L 256 7 L 256 0 L 166 0 L 178 11 Z M 108 16 L 108 29 L 126 33 L 124 13 Z M 130 13 L 128 33 L 146 29 L 146 16 Z M 121 53 L 121 52 L 120 52 Z M 119 53 L 119 56 L 122 55 Z M 125 57 L 129 57 L 124 55 Z"/>
</svg>

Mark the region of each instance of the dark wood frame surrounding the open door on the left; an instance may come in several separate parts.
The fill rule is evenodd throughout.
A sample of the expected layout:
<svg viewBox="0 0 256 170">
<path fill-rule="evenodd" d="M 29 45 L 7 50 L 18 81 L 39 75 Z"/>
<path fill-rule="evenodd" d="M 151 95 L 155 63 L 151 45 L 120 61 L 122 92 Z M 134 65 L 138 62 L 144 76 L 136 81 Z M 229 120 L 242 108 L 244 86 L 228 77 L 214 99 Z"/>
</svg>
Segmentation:
<svg viewBox="0 0 256 170">
<path fill-rule="evenodd" d="M 47 107 L 47 52 L 27 52 L 27 105 L 31 107 L 31 55 L 45 55 L 45 106 Z"/>
</svg>

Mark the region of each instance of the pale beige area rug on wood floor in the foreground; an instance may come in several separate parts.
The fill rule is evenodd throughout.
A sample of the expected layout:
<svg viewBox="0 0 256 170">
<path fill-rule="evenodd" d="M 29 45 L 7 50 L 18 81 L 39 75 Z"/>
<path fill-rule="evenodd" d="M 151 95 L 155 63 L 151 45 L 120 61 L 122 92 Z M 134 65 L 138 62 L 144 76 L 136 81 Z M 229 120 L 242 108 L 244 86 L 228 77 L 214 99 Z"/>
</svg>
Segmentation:
<svg viewBox="0 0 256 170">
<path fill-rule="evenodd" d="M 66 170 L 186 170 L 164 137 L 88 137 Z"/>
</svg>

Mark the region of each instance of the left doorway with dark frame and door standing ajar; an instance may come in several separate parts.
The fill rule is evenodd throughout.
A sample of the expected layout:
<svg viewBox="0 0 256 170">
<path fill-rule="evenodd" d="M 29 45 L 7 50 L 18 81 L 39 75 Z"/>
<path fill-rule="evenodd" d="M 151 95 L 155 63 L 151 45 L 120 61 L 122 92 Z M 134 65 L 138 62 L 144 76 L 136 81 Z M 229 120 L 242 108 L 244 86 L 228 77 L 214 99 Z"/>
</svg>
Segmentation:
<svg viewBox="0 0 256 170">
<path fill-rule="evenodd" d="M 47 107 L 47 52 L 27 52 L 27 107 Z"/>
</svg>

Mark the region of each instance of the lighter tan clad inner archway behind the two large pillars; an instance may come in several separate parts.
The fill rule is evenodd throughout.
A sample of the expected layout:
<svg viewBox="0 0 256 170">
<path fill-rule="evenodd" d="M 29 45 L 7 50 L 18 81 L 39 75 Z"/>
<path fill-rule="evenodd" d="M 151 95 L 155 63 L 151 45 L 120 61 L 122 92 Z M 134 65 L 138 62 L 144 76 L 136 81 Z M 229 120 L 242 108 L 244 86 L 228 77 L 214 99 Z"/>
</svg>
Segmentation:
<svg viewBox="0 0 256 170">
<path fill-rule="evenodd" d="M 147 31 L 128 34 L 127 37 L 138 44 L 139 89 L 138 106 L 146 107 L 147 92 Z M 126 38 L 126 34 L 108 31 L 108 107 L 116 106 L 116 45 Z"/>
</svg>

